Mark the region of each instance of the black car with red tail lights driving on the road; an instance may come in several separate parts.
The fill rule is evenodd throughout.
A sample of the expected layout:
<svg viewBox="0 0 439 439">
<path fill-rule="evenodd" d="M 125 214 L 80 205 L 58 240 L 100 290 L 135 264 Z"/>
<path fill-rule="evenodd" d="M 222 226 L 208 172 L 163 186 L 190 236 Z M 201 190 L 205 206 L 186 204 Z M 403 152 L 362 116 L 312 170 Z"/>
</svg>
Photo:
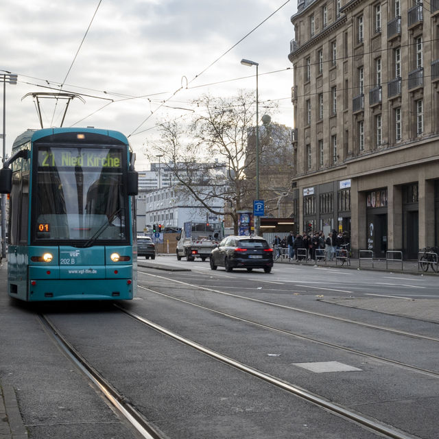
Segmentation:
<svg viewBox="0 0 439 439">
<path fill-rule="evenodd" d="M 224 267 L 226 272 L 233 268 L 263 268 L 270 273 L 273 266 L 273 249 L 262 237 L 229 236 L 224 238 L 217 248 L 211 251 L 211 269 Z"/>
</svg>

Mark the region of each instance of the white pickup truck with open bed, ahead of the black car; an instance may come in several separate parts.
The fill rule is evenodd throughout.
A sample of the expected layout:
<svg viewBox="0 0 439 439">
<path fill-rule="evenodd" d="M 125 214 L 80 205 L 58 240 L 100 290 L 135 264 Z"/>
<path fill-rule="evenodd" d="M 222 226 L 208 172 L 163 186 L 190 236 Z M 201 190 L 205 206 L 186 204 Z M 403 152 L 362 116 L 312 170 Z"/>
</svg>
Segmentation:
<svg viewBox="0 0 439 439">
<path fill-rule="evenodd" d="M 177 259 L 186 257 L 187 261 L 201 258 L 205 261 L 223 239 L 222 223 L 185 222 L 181 233 L 177 236 Z"/>
</svg>

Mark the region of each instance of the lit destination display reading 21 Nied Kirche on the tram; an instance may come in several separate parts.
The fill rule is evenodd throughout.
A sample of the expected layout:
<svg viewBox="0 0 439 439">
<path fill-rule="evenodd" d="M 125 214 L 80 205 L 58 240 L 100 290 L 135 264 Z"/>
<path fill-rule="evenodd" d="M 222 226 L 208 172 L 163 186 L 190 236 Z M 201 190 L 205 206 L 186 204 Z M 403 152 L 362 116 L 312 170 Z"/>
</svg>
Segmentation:
<svg viewBox="0 0 439 439">
<path fill-rule="evenodd" d="M 49 148 L 38 152 L 39 167 L 121 168 L 119 150 L 84 150 L 84 148 Z"/>
</svg>

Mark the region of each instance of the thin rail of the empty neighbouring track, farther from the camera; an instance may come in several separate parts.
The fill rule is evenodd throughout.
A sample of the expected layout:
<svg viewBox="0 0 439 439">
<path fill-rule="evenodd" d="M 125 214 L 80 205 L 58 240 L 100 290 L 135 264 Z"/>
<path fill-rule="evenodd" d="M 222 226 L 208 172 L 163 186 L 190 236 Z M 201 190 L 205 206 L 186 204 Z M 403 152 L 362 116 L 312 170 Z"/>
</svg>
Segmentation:
<svg viewBox="0 0 439 439">
<path fill-rule="evenodd" d="M 150 273 L 140 272 L 140 271 L 139 271 L 139 273 L 146 274 L 147 276 L 166 279 L 167 281 L 171 281 L 174 283 L 180 283 L 181 285 L 187 285 L 188 287 L 195 287 L 195 288 L 199 288 L 199 289 L 204 289 L 205 291 L 209 291 L 209 292 L 216 293 L 216 294 L 224 294 L 224 296 L 235 297 L 235 298 L 239 298 L 242 300 L 249 300 L 250 302 L 257 302 L 257 303 L 262 303 L 263 305 L 270 305 L 272 307 L 289 309 L 290 311 L 296 311 L 299 313 L 309 314 L 311 316 L 318 316 L 318 317 L 328 318 L 331 320 L 338 320 L 339 322 L 352 323 L 352 324 L 356 324 L 357 326 L 361 326 L 361 327 L 366 327 L 366 328 L 371 328 L 371 329 L 379 329 L 380 331 L 385 331 L 385 332 L 394 333 L 394 334 L 398 334 L 398 335 L 407 335 L 407 337 L 418 338 L 420 340 L 429 340 L 430 342 L 438 342 L 439 343 L 438 337 L 431 337 L 429 335 L 416 334 L 416 333 L 412 333 L 412 332 L 408 332 L 408 331 L 401 331 L 401 329 L 382 327 L 379 324 L 359 322 L 358 320 L 351 320 L 351 319 L 343 318 L 343 317 L 329 316 L 329 314 L 318 313 L 316 311 L 309 311 L 308 309 L 300 309 L 300 308 L 296 308 L 296 307 L 289 307 L 287 305 L 279 305 L 278 303 L 270 302 L 268 300 L 261 300 L 261 299 L 246 297 L 246 296 L 239 296 L 239 294 L 233 294 L 233 293 L 228 293 L 228 292 L 224 292 L 224 291 L 219 291 L 218 289 L 213 289 L 210 287 L 203 287 L 202 285 L 195 285 L 193 283 L 178 281 L 178 280 L 173 279 L 173 278 L 167 278 L 165 276 L 158 276 L 157 274 L 150 274 Z M 406 316 L 402 316 L 402 317 L 406 317 Z"/>
</svg>

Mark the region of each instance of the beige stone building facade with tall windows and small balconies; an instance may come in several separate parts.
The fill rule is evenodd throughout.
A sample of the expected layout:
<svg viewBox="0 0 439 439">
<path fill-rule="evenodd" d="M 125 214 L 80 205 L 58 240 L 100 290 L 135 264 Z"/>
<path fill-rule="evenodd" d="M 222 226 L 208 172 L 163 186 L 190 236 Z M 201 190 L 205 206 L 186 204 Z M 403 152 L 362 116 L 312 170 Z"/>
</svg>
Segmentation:
<svg viewBox="0 0 439 439">
<path fill-rule="evenodd" d="M 439 244 L 439 1 L 299 0 L 293 186 L 304 230 L 352 249 Z"/>
</svg>

